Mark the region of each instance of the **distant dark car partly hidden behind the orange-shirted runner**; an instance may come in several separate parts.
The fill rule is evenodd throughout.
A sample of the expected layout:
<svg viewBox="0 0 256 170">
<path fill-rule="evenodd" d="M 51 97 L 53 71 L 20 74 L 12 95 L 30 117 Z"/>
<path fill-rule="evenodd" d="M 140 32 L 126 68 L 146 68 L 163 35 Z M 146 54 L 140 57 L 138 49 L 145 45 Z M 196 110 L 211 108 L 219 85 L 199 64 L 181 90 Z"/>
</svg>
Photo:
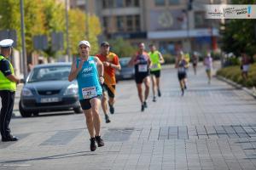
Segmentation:
<svg viewBox="0 0 256 170">
<path fill-rule="evenodd" d="M 121 65 L 121 71 L 116 71 L 117 81 L 134 78 L 134 74 L 135 74 L 134 67 L 128 66 L 130 59 L 131 57 L 124 57 L 119 59 L 119 63 Z"/>
</svg>

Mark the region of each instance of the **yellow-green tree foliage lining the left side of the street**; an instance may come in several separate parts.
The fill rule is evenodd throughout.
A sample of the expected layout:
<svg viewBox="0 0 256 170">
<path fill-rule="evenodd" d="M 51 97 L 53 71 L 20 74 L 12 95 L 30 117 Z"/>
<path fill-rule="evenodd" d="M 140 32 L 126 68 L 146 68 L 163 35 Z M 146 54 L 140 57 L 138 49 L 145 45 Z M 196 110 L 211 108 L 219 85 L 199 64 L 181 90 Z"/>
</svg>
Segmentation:
<svg viewBox="0 0 256 170">
<path fill-rule="evenodd" d="M 24 20 L 26 36 L 26 52 L 32 54 L 32 37 L 36 35 L 46 35 L 49 40 L 49 48 L 44 50 L 47 56 L 55 57 L 57 54 L 51 49 L 51 33 L 62 31 L 64 33 L 64 47 L 67 48 L 66 40 L 66 20 L 65 7 L 63 3 L 55 0 L 24 0 Z M 18 48 L 21 47 L 20 37 L 20 1 L 19 0 L 0 0 L 0 30 L 15 30 L 18 39 Z M 84 11 L 79 9 L 70 9 L 69 16 L 69 42 L 71 54 L 78 53 L 79 41 L 86 39 L 87 32 L 85 28 Z M 95 16 L 89 16 L 89 41 L 91 44 L 91 53 L 98 51 L 97 37 L 101 33 L 99 19 Z M 61 52 L 59 52 L 61 53 Z M 66 53 L 66 49 L 62 51 Z"/>
</svg>

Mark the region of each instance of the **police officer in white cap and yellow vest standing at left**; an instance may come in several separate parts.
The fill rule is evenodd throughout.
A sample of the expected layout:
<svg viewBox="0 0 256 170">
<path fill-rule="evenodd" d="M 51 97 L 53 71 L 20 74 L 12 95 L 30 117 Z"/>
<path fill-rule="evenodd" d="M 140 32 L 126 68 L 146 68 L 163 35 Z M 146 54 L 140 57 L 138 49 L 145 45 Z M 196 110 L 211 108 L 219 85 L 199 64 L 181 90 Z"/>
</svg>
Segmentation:
<svg viewBox="0 0 256 170">
<path fill-rule="evenodd" d="M 2 108 L 0 113 L 0 131 L 3 142 L 16 141 L 18 138 L 10 133 L 9 122 L 15 104 L 15 91 L 20 79 L 15 77 L 13 65 L 9 62 L 12 52 L 12 39 L 4 39 L 0 42 L 0 97 Z"/>
</svg>

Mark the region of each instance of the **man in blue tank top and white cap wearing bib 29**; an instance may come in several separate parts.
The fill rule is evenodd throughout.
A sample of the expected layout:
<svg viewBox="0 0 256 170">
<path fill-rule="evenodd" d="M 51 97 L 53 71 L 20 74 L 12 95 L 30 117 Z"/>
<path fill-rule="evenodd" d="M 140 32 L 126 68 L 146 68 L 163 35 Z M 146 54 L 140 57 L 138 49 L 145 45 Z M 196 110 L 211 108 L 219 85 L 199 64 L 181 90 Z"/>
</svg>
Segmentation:
<svg viewBox="0 0 256 170">
<path fill-rule="evenodd" d="M 74 59 L 68 80 L 79 84 L 79 101 L 84 111 L 86 125 L 90 133 L 90 150 L 104 145 L 100 136 L 101 118 L 99 108 L 102 99 L 103 64 L 100 59 L 90 56 L 90 42 L 79 42 L 79 58 Z"/>
</svg>

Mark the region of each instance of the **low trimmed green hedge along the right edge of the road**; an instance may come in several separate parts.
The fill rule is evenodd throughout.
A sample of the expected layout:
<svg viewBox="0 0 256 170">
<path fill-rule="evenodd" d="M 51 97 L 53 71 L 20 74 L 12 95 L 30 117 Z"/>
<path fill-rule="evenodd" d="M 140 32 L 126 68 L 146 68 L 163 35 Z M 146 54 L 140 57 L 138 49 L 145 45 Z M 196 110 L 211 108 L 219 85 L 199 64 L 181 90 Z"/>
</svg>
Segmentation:
<svg viewBox="0 0 256 170">
<path fill-rule="evenodd" d="M 256 86 L 256 64 L 250 65 L 247 82 L 243 81 L 241 77 L 241 69 L 238 65 L 222 68 L 217 71 L 217 75 L 228 78 L 233 82 L 237 82 L 249 88 Z"/>
</svg>

